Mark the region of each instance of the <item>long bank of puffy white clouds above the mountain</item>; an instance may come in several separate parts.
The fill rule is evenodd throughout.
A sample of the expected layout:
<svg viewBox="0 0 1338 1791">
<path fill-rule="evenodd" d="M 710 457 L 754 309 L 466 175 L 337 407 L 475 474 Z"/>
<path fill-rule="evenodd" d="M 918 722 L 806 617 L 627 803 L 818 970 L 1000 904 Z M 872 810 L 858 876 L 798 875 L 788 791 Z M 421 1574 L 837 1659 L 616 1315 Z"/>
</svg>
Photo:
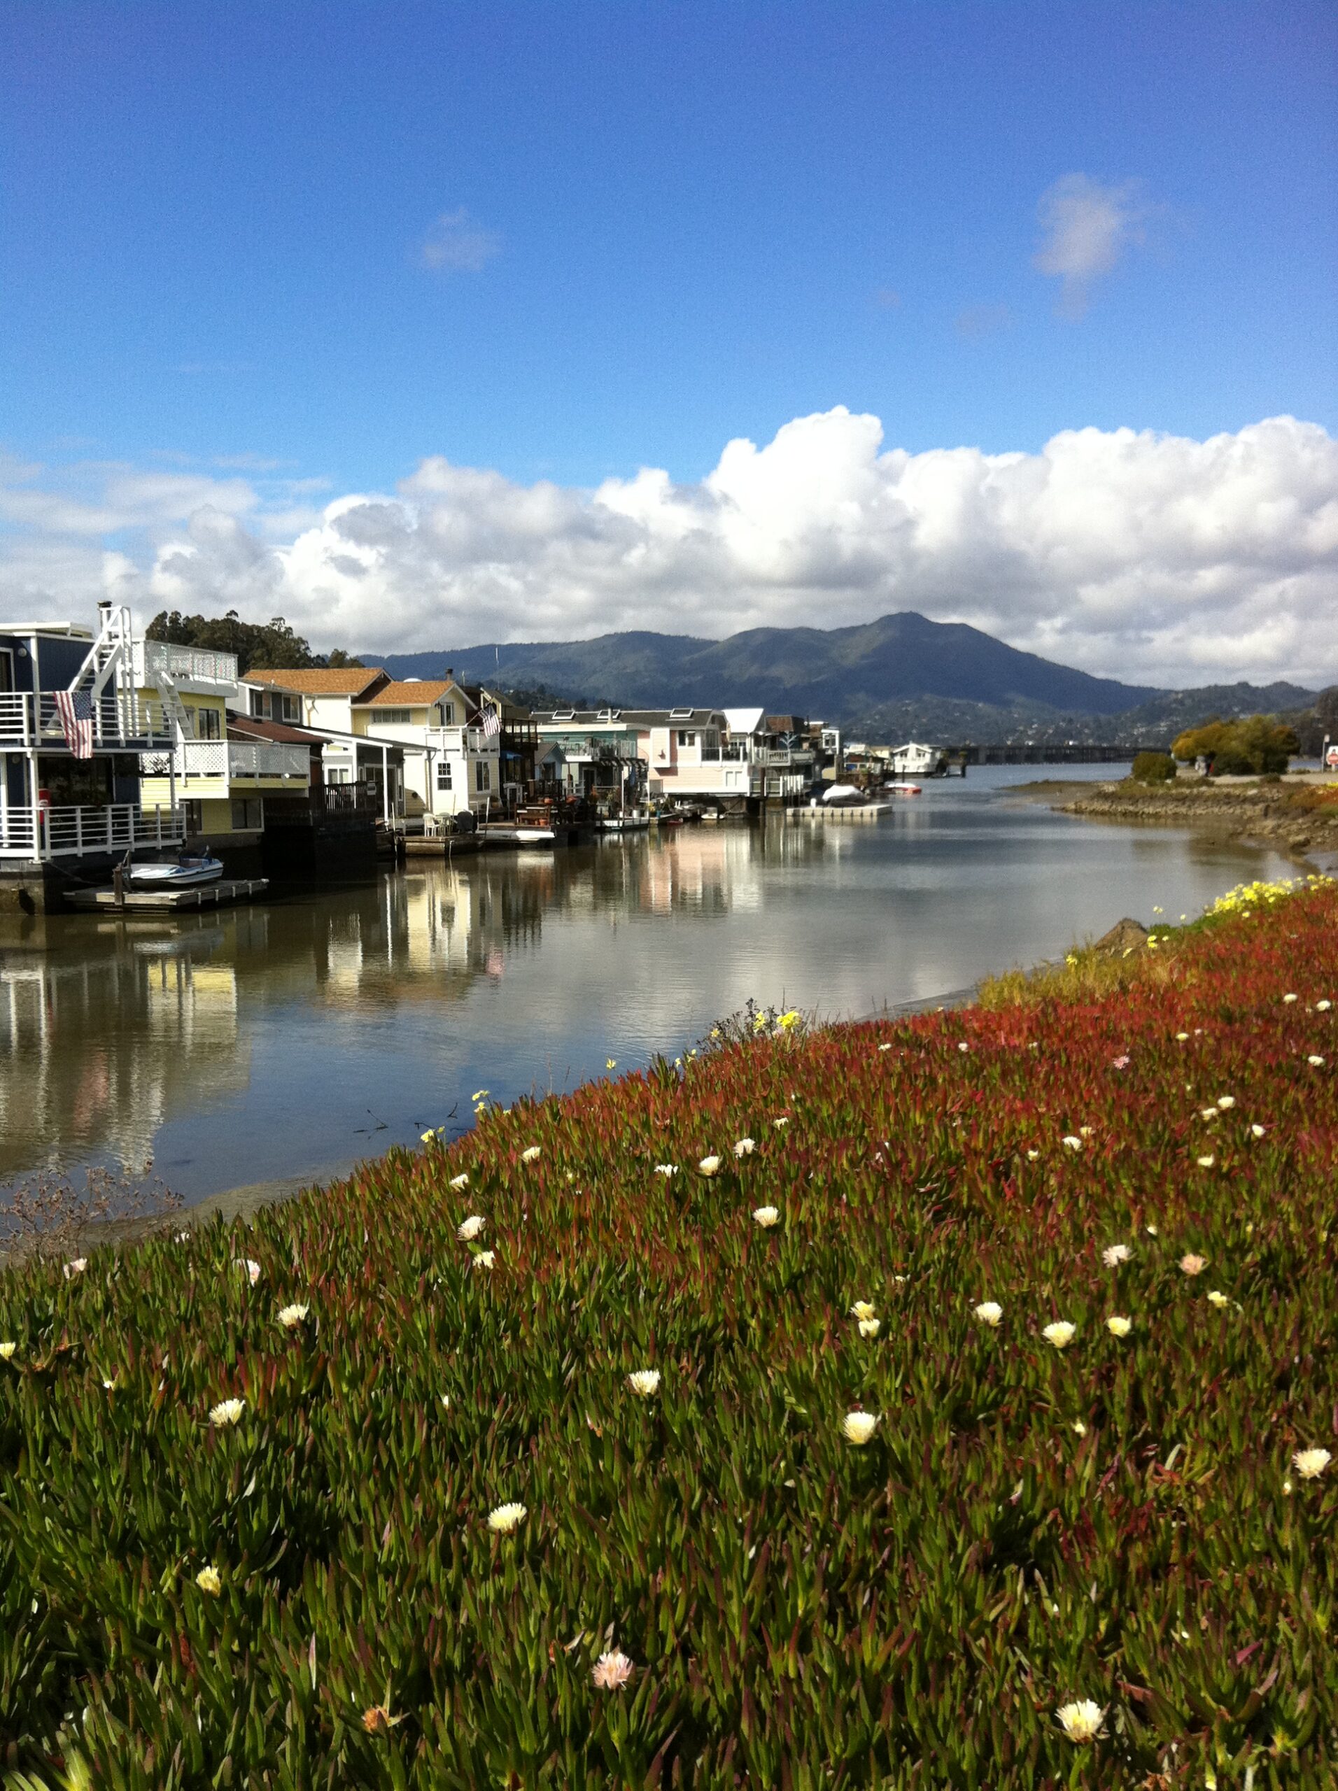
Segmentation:
<svg viewBox="0 0 1338 1791">
<path fill-rule="evenodd" d="M 643 467 L 593 491 L 519 485 L 433 457 L 319 510 L 204 487 L 106 475 L 81 500 L 120 532 L 99 543 L 61 478 L 16 469 L 0 613 L 73 614 L 115 580 L 142 611 L 285 614 L 319 647 L 394 652 L 917 609 L 1137 682 L 1338 681 L 1338 442 L 1293 417 L 912 455 L 838 407 L 731 441 L 699 484 Z"/>
</svg>

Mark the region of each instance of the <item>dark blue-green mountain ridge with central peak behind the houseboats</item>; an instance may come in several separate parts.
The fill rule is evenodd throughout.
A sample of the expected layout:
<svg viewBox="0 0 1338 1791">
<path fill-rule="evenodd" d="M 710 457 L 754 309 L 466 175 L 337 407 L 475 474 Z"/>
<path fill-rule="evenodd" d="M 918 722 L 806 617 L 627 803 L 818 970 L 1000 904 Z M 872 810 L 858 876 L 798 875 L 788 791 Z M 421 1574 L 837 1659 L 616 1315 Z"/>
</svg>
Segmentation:
<svg viewBox="0 0 1338 1791">
<path fill-rule="evenodd" d="M 942 740 L 1130 740 L 1211 713 L 1295 707 L 1295 684 L 1164 691 L 1121 684 L 1019 652 L 964 623 L 913 611 L 851 629 L 749 629 L 724 641 L 686 634 L 602 634 L 591 641 L 455 647 L 362 656 L 394 677 L 441 677 L 507 690 L 543 688 L 622 707 L 761 704 L 822 718 L 869 738 L 930 733 Z M 1121 725 L 1116 727 L 1114 718 Z"/>
</svg>

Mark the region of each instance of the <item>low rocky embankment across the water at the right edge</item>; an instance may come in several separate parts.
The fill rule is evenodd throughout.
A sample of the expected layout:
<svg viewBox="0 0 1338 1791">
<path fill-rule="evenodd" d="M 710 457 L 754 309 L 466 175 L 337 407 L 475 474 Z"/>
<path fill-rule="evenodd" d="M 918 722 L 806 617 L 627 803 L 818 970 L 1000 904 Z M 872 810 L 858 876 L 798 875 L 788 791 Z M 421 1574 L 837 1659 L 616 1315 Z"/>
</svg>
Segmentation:
<svg viewBox="0 0 1338 1791">
<path fill-rule="evenodd" d="M 1338 851 L 1338 802 L 1293 783 L 1057 784 L 1051 806 L 1100 820 L 1159 820 L 1293 851 Z"/>
</svg>

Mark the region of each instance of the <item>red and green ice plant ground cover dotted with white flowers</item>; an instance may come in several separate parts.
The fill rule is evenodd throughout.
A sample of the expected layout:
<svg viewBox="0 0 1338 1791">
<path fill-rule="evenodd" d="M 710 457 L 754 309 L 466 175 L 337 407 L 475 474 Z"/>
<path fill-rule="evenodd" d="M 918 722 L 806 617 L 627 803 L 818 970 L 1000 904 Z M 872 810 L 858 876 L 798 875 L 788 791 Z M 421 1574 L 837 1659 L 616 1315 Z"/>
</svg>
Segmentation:
<svg viewBox="0 0 1338 1791">
<path fill-rule="evenodd" d="M 4 1275 L 9 1784 L 1333 1786 L 1338 890 L 1066 974 Z"/>
</svg>

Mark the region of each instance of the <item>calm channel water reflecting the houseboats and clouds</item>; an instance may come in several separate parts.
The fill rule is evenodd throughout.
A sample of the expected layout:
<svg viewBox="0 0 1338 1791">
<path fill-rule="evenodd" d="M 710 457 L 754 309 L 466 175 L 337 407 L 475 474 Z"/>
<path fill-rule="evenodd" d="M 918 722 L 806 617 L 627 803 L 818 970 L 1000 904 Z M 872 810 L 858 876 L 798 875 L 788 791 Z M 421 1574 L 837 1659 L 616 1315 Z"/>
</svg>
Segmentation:
<svg viewBox="0 0 1338 1791">
<path fill-rule="evenodd" d="M 335 1171 L 467 1123 L 475 1089 L 505 1103 L 673 1053 L 749 996 L 867 1014 L 1290 869 L 1001 793 L 1026 776 L 928 784 L 865 826 L 682 827 L 193 919 L 4 922 L 0 1182 L 152 1159 L 190 1200 Z"/>
</svg>

